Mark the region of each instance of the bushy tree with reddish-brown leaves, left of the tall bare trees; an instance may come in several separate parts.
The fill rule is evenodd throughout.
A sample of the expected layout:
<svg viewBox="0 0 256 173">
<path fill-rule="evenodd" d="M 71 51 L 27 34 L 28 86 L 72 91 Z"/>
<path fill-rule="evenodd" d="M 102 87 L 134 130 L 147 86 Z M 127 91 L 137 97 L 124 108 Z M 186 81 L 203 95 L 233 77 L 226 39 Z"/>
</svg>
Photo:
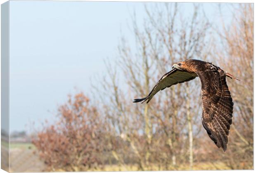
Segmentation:
<svg viewBox="0 0 256 173">
<path fill-rule="evenodd" d="M 99 167 L 104 150 L 104 125 L 88 97 L 79 93 L 58 109 L 55 125 L 40 131 L 33 144 L 49 170 L 85 171 Z"/>
</svg>

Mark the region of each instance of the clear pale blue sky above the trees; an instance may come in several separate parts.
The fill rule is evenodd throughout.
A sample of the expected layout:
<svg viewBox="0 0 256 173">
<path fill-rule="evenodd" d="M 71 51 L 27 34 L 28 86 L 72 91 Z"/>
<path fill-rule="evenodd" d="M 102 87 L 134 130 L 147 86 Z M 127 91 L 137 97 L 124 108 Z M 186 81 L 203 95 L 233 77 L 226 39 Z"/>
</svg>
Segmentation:
<svg viewBox="0 0 256 173">
<path fill-rule="evenodd" d="M 115 60 L 121 33 L 135 46 L 128 25 L 135 11 L 142 27 L 144 5 L 10 1 L 10 132 L 31 131 L 45 119 L 54 121 L 68 94 L 83 91 L 90 95 L 90 79 L 106 73 L 106 58 Z M 184 14 L 190 15 L 192 3 L 183 6 Z M 219 20 L 216 4 L 203 7 L 210 20 Z"/>
</svg>

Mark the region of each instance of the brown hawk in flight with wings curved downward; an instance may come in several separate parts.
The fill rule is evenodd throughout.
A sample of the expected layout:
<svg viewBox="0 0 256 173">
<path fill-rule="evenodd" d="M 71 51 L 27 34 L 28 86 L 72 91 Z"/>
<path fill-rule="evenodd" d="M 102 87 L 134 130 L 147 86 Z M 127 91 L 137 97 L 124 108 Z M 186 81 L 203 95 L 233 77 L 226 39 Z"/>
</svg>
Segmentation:
<svg viewBox="0 0 256 173">
<path fill-rule="evenodd" d="M 220 67 L 201 60 L 174 63 L 173 69 L 160 78 L 147 97 L 134 99 L 133 102 L 147 101 L 148 103 L 160 90 L 177 83 L 191 81 L 197 76 L 201 81 L 202 124 L 211 140 L 225 152 L 234 105 L 226 83 L 226 76 L 235 77 Z"/>
</svg>

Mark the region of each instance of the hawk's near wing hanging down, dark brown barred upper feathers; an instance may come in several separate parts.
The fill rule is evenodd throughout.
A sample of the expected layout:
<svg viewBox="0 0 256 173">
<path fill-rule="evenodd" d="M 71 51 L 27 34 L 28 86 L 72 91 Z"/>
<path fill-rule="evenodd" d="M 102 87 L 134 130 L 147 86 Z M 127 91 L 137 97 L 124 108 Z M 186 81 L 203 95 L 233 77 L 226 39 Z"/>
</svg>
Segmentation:
<svg viewBox="0 0 256 173">
<path fill-rule="evenodd" d="M 202 84 L 202 123 L 211 140 L 223 151 L 227 150 L 234 105 L 226 73 L 222 69 L 197 73 Z"/>
</svg>

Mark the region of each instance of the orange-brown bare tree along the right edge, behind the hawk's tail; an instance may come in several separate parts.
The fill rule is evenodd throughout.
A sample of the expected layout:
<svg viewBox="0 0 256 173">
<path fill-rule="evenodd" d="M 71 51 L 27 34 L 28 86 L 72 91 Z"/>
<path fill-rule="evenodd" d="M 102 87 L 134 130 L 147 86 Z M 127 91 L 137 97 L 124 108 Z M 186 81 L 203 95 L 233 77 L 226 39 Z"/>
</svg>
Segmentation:
<svg viewBox="0 0 256 173">
<path fill-rule="evenodd" d="M 219 32 L 221 47 L 216 51 L 218 63 L 227 71 L 239 76 L 229 87 L 234 100 L 232 138 L 228 152 L 223 155 L 232 169 L 253 168 L 253 5 L 232 6 L 231 25 L 223 23 Z"/>
</svg>

